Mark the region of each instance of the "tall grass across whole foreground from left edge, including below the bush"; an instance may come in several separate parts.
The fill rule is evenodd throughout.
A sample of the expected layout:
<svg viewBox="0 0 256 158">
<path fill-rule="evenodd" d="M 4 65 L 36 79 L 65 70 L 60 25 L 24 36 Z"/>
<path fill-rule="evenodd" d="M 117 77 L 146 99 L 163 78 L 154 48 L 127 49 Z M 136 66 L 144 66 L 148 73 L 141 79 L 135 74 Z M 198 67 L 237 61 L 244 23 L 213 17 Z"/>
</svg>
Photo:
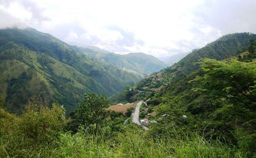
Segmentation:
<svg viewBox="0 0 256 158">
<path fill-rule="evenodd" d="M 173 129 L 159 136 L 127 126 L 125 132 L 111 136 L 83 129 L 74 135 L 64 132 L 51 144 L 29 148 L 18 145 L 18 139 L 0 137 L 0 157 L 246 157 L 235 147 L 218 139 L 206 140 L 195 132 L 180 134 Z"/>
</svg>

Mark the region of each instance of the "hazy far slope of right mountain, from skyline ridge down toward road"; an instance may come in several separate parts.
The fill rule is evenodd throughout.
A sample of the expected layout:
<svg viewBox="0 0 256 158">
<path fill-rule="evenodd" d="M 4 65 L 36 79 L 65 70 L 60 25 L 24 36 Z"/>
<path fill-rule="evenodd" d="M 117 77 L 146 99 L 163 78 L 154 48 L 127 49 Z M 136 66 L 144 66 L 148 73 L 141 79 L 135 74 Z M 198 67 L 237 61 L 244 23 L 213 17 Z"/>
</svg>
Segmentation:
<svg viewBox="0 0 256 158">
<path fill-rule="evenodd" d="M 134 94 L 139 94 L 137 99 L 145 99 L 154 96 L 156 92 L 169 92 L 169 90 L 166 89 L 173 86 L 170 85 L 170 82 L 172 82 L 172 84 L 176 83 L 172 88 L 177 88 L 177 93 L 179 93 L 179 90 L 185 88 L 187 85 L 186 83 L 182 83 L 183 78 L 199 69 L 199 65 L 195 64 L 196 62 L 205 57 L 216 60 L 227 59 L 236 55 L 239 51 L 247 49 L 250 45 L 250 39 L 255 37 L 255 34 L 250 33 L 237 33 L 223 36 L 203 48 L 194 50 L 170 68 L 153 73 L 134 86 L 124 89 L 122 93 L 113 97 L 112 101 L 129 102 L 132 101 L 131 96 Z M 179 84 L 177 83 L 185 87 L 178 86 Z M 133 91 L 131 92 L 129 89 L 133 89 Z"/>
</svg>

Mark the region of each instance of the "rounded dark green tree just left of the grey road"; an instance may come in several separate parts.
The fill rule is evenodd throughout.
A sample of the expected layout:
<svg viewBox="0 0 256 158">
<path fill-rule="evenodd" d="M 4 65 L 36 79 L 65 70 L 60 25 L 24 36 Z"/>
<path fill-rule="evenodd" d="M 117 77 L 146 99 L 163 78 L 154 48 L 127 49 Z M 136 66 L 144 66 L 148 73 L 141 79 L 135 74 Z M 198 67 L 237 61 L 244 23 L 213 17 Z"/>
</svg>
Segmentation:
<svg viewBox="0 0 256 158">
<path fill-rule="evenodd" d="M 108 112 L 105 110 L 108 106 L 109 102 L 105 96 L 86 93 L 82 102 L 77 106 L 78 117 L 84 125 L 95 124 L 98 129 L 99 125 L 108 117 Z"/>
</svg>

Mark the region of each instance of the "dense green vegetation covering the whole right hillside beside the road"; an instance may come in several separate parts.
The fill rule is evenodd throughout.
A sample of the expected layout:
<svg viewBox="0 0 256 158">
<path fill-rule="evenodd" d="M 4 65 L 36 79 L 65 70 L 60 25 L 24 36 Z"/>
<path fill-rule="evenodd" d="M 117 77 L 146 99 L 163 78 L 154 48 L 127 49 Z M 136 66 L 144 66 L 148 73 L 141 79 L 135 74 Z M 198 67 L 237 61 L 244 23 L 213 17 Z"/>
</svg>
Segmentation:
<svg viewBox="0 0 256 158">
<path fill-rule="evenodd" d="M 157 125 L 147 125 L 150 131 L 164 137 L 165 130 L 179 129 L 178 135 L 189 130 L 189 134 L 237 148 L 241 157 L 255 156 L 256 63 L 255 49 L 247 52 L 255 48 L 250 37 L 255 35 L 224 36 L 131 86 L 142 91 L 137 100 L 150 98 L 148 112 L 140 114 L 157 121 Z M 246 44 L 244 48 L 242 44 Z M 224 56 L 216 55 L 222 49 L 226 50 Z M 164 87 L 157 89 L 158 83 Z M 119 99 L 126 94 L 119 94 Z"/>
</svg>

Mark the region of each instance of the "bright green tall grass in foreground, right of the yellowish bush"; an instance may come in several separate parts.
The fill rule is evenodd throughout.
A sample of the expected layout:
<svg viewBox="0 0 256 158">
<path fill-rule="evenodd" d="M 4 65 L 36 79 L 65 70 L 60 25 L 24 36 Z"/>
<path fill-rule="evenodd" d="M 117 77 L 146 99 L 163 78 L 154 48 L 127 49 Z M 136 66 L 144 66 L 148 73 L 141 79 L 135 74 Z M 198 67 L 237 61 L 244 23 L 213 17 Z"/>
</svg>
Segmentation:
<svg viewBox="0 0 256 158">
<path fill-rule="evenodd" d="M 128 130 L 111 139 L 103 134 L 63 134 L 51 157 L 245 157 L 218 140 L 197 134 L 157 138 L 142 130 Z"/>
</svg>

